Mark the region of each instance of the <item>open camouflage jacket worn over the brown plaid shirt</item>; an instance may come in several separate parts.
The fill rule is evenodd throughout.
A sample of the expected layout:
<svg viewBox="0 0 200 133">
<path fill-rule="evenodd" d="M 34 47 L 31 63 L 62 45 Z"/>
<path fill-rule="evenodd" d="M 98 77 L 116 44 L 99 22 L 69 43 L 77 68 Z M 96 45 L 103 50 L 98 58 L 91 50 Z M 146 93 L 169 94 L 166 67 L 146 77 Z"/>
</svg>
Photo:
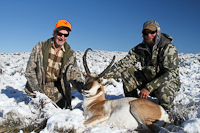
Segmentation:
<svg viewBox="0 0 200 133">
<path fill-rule="evenodd" d="M 45 74 L 48 65 L 49 44 L 53 38 L 47 41 L 40 41 L 33 48 L 25 77 L 27 79 L 26 88 L 28 91 L 38 91 L 45 84 Z M 81 92 L 83 86 L 80 70 L 76 62 L 76 53 L 71 50 L 70 46 L 65 42 L 65 52 L 63 55 L 63 63 L 61 66 L 60 81 L 65 95 L 71 96 L 70 83 L 74 88 Z M 70 93 L 70 94 L 68 94 Z"/>
</svg>

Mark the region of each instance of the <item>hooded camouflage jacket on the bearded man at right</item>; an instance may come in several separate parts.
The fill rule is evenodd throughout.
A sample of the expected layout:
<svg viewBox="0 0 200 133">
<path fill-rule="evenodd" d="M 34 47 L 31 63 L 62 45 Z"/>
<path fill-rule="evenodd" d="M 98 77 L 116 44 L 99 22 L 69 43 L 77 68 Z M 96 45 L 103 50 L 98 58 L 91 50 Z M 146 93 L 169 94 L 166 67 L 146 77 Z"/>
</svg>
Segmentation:
<svg viewBox="0 0 200 133">
<path fill-rule="evenodd" d="M 135 67 L 143 73 L 147 81 L 146 88 L 150 92 L 170 82 L 180 88 L 178 51 L 171 43 L 173 39 L 164 33 L 160 33 L 158 39 L 152 50 L 145 41 L 138 44 L 115 63 L 106 76 L 117 77 L 127 68 Z"/>
</svg>

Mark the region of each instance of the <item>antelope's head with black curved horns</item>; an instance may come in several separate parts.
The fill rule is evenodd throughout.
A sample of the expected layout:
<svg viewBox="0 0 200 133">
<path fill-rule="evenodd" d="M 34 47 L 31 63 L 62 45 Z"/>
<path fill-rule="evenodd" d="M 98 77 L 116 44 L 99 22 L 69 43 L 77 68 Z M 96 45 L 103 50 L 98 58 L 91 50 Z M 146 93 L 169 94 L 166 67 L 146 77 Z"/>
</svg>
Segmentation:
<svg viewBox="0 0 200 133">
<path fill-rule="evenodd" d="M 86 55 L 89 50 L 92 51 L 91 48 L 88 48 L 83 55 L 83 65 L 86 73 L 83 72 L 82 73 L 85 76 L 86 80 L 85 80 L 85 85 L 83 86 L 82 95 L 86 98 L 101 96 L 102 98 L 104 97 L 105 99 L 103 84 L 106 83 L 107 79 L 104 79 L 103 76 L 105 75 L 106 72 L 108 72 L 109 68 L 114 63 L 115 56 L 113 56 L 110 65 L 101 74 L 91 73 L 86 62 Z"/>
</svg>

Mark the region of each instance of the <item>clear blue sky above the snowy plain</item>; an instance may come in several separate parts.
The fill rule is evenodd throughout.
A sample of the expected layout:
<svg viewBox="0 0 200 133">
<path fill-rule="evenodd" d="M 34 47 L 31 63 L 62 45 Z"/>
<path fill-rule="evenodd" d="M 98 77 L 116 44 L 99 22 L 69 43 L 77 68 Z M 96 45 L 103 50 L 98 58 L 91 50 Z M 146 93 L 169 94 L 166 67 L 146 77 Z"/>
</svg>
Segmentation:
<svg viewBox="0 0 200 133">
<path fill-rule="evenodd" d="M 74 51 L 128 52 L 142 42 L 142 25 L 156 20 L 179 53 L 200 53 L 199 0 L 1 0 L 0 52 L 31 52 L 68 20 Z"/>
</svg>

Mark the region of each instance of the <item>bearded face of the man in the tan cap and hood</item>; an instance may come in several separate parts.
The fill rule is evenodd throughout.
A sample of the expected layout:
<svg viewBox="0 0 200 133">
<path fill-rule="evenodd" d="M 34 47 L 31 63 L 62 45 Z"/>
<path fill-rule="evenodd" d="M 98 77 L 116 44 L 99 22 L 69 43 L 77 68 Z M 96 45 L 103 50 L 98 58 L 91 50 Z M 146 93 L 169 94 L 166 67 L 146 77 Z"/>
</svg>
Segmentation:
<svg viewBox="0 0 200 133">
<path fill-rule="evenodd" d="M 148 45 L 153 46 L 155 44 L 155 36 L 156 36 L 156 31 L 151 31 L 149 29 L 145 29 L 143 31 L 143 37 L 145 41 L 147 42 Z"/>
</svg>

